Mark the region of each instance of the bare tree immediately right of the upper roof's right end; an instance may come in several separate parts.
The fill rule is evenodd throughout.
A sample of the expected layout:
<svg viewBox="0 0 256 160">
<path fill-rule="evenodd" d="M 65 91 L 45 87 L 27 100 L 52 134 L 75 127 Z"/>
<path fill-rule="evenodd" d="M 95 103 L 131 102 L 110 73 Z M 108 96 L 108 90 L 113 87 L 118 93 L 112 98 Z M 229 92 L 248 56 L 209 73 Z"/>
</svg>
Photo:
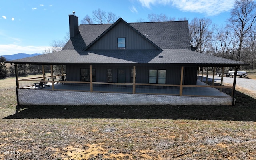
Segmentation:
<svg viewBox="0 0 256 160">
<path fill-rule="evenodd" d="M 201 53 L 212 39 L 211 24 L 212 20 L 208 18 L 194 18 L 189 24 L 190 44 Z"/>
</svg>

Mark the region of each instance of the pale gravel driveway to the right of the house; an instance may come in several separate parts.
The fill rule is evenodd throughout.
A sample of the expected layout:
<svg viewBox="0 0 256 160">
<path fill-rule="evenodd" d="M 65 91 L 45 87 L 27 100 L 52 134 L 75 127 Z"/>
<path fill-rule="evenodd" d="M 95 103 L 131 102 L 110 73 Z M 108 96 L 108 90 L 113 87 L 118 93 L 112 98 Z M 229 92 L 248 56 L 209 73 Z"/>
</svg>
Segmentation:
<svg viewBox="0 0 256 160">
<path fill-rule="evenodd" d="M 204 79 L 206 79 L 206 75 L 204 75 Z M 199 76 L 199 80 L 201 80 L 201 77 Z M 208 81 L 212 81 L 212 75 L 208 75 Z M 214 76 L 214 81 L 219 82 L 221 81 L 221 77 Z M 232 77 L 223 77 L 223 83 L 230 83 L 233 84 L 234 78 Z M 250 79 L 250 78 L 236 78 L 236 86 L 244 87 L 246 89 L 249 89 L 251 91 L 254 91 L 256 93 L 256 80 Z"/>
</svg>

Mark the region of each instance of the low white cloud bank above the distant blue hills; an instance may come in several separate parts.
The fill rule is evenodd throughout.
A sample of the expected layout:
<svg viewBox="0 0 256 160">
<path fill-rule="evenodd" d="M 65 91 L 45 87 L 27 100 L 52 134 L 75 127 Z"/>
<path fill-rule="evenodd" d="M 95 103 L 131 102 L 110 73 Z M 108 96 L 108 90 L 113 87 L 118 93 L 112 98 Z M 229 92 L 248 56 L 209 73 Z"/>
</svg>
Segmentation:
<svg viewBox="0 0 256 160">
<path fill-rule="evenodd" d="M 26 54 L 34 54 L 34 53 L 43 53 L 46 49 L 48 50 L 50 46 L 20 46 L 14 44 L 8 45 L 0 45 L 1 55 L 12 55 L 17 53 L 26 53 Z"/>
</svg>

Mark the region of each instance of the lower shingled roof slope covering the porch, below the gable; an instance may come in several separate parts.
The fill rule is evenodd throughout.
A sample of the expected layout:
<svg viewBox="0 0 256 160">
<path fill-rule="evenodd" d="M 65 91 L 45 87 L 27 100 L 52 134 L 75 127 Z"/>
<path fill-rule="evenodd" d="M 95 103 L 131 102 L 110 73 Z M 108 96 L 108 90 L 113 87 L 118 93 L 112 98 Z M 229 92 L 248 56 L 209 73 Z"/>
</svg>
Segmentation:
<svg viewBox="0 0 256 160">
<path fill-rule="evenodd" d="M 190 66 L 238 66 L 248 65 L 213 55 L 206 55 L 188 49 L 160 50 L 62 50 L 8 61 L 16 64 L 84 64 L 84 63 L 121 63 L 121 64 L 168 64 Z"/>
</svg>

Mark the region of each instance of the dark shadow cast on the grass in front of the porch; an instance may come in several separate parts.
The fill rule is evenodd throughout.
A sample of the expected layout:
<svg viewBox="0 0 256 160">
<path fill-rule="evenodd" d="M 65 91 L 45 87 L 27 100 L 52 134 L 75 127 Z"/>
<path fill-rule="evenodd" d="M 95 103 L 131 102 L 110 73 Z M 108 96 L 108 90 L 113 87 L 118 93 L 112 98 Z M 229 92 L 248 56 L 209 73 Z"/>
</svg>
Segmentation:
<svg viewBox="0 0 256 160">
<path fill-rule="evenodd" d="M 121 118 L 256 121 L 256 99 L 236 91 L 236 105 L 19 105 L 4 119 Z"/>
</svg>

